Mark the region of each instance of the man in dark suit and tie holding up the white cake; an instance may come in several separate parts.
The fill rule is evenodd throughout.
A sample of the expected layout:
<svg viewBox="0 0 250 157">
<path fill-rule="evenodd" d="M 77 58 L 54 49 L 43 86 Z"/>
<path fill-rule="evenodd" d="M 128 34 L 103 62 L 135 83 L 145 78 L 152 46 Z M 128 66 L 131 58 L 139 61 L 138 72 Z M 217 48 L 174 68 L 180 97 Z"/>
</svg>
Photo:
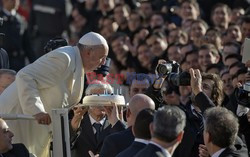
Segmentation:
<svg viewBox="0 0 250 157">
<path fill-rule="evenodd" d="M 108 93 L 113 93 L 109 84 L 102 84 L 100 81 L 92 82 L 86 89 L 86 95 L 101 94 L 105 90 Z M 125 125 L 119 121 L 118 113 L 111 113 L 117 112 L 115 109 L 116 107 L 111 110 L 90 106 L 74 110 L 74 117 L 70 125 L 73 157 L 88 157 L 88 151 L 99 153 L 106 136 L 125 130 Z"/>
</svg>

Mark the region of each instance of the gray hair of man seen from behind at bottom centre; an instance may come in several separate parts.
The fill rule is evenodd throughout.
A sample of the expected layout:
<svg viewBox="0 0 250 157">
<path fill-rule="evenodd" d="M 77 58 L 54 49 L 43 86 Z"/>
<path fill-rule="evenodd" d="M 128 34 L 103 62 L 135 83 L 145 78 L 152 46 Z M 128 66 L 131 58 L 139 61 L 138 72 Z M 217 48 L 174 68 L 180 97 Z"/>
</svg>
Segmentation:
<svg viewBox="0 0 250 157">
<path fill-rule="evenodd" d="M 172 142 L 184 130 L 186 115 L 177 106 L 163 106 L 154 115 L 153 137 Z"/>
</svg>

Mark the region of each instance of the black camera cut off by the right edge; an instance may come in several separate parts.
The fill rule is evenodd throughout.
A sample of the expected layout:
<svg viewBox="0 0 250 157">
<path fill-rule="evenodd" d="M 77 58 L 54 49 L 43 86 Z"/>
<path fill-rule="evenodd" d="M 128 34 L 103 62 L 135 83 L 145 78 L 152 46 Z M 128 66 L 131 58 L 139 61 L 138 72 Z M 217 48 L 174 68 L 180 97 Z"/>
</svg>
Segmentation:
<svg viewBox="0 0 250 157">
<path fill-rule="evenodd" d="M 250 68 L 248 68 L 248 74 Z M 250 81 L 246 82 L 243 87 L 236 88 L 234 91 L 237 103 L 250 108 Z"/>
</svg>

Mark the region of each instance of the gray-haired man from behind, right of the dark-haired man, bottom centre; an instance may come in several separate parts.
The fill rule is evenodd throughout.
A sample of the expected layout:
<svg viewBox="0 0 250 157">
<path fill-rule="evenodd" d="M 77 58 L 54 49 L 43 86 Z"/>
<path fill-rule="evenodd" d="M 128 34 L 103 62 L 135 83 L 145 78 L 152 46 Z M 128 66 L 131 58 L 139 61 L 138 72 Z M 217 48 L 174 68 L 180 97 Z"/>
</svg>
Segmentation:
<svg viewBox="0 0 250 157">
<path fill-rule="evenodd" d="M 163 106 L 150 125 L 151 141 L 135 157 L 171 157 L 182 140 L 185 113 L 177 106 Z"/>
</svg>

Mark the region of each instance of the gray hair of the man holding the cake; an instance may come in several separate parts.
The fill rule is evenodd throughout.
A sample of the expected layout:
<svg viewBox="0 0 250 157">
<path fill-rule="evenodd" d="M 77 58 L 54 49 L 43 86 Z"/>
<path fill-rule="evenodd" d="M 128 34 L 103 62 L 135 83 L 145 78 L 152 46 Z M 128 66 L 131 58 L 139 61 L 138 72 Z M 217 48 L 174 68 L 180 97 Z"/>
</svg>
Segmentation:
<svg viewBox="0 0 250 157">
<path fill-rule="evenodd" d="M 86 95 L 90 95 L 90 94 L 93 94 L 91 91 L 92 90 L 98 90 L 98 89 L 104 89 L 104 90 L 107 90 L 107 93 L 111 94 L 113 93 L 113 88 L 111 87 L 110 84 L 108 83 L 102 83 L 101 81 L 93 81 L 89 84 L 89 86 L 87 87 L 86 91 L 85 91 L 85 94 Z"/>
</svg>

